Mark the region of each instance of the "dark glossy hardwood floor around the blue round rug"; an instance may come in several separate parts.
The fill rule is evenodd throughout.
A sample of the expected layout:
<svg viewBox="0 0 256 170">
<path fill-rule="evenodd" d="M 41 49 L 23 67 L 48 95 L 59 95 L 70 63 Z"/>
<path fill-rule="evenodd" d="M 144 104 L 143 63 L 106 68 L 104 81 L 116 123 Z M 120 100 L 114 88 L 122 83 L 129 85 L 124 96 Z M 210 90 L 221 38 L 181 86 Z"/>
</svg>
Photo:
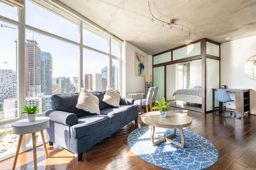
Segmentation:
<svg viewBox="0 0 256 170">
<path fill-rule="evenodd" d="M 199 133 L 210 140 L 218 149 L 218 161 L 208 170 L 256 170 L 256 115 L 240 114 L 237 117 L 226 112 L 202 114 L 185 109 L 170 107 L 192 118 L 186 129 Z M 104 141 L 86 150 L 83 159 L 76 162 L 74 154 L 58 147 L 48 146 L 49 158 L 46 159 L 43 147 L 37 148 L 38 170 L 160 170 L 135 156 L 127 145 L 128 135 L 136 128 L 145 126 L 140 120 L 132 122 Z M 185 142 L 186 145 L 186 142 Z M 0 162 L 0 169 L 11 169 L 14 157 Z M 19 155 L 16 169 L 32 170 L 32 150 Z"/>
</svg>

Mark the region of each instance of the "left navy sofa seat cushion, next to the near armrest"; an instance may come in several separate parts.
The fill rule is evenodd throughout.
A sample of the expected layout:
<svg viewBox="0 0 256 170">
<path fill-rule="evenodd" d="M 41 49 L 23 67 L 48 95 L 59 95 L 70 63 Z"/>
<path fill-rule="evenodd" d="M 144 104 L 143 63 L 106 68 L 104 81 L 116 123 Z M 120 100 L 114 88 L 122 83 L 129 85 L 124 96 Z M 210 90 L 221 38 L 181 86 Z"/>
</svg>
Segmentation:
<svg viewBox="0 0 256 170">
<path fill-rule="evenodd" d="M 78 124 L 70 127 L 70 137 L 78 139 L 110 125 L 110 117 L 89 114 L 78 118 Z"/>
</svg>

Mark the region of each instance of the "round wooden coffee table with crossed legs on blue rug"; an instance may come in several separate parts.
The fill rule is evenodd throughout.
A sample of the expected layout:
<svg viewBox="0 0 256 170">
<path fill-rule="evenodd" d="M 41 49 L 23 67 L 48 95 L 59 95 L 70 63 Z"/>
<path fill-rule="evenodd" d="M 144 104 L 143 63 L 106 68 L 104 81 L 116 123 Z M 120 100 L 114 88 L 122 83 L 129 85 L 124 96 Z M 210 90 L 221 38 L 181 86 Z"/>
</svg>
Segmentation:
<svg viewBox="0 0 256 170">
<path fill-rule="evenodd" d="M 151 141 L 153 146 L 157 145 L 160 142 L 168 141 L 173 143 L 179 147 L 184 148 L 185 145 L 185 137 L 183 133 L 184 127 L 188 127 L 192 123 L 191 117 L 187 115 L 183 115 L 181 113 L 176 113 L 172 111 L 166 112 L 166 117 L 160 117 L 159 111 L 150 111 L 148 113 L 144 113 L 141 115 L 141 119 L 143 123 L 149 125 L 151 130 Z M 166 129 L 174 129 L 174 132 L 166 137 L 155 134 L 155 127 L 162 127 Z M 170 139 L 174 135 L 176 135 L 176 129 L 180 129 L 181 143 L 173 141 Z M 157 135 L 160 139 L 154 141 L 154 135 Z"/>
</svg>

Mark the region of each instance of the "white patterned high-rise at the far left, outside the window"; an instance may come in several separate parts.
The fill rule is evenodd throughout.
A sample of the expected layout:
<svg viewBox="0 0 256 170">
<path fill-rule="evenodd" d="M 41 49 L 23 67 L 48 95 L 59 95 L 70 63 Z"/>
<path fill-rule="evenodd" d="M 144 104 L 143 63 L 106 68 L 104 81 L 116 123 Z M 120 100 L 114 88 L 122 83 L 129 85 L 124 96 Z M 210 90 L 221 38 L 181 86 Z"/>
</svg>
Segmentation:
<svg viewBox="0 0 256 170">
<path fill-rule="evenodd" d="M 16 72 L 0 69 L 0 102 L 16 97 Z"/>
</svg>

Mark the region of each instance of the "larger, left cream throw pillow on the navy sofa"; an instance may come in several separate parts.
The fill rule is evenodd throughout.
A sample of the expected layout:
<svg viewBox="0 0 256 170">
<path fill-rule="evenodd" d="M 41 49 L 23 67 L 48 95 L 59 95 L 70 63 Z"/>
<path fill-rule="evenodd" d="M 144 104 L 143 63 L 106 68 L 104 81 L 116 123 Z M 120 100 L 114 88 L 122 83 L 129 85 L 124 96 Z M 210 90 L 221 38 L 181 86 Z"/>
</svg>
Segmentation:
<svg viewBox="0 0 256 170">
<path fill-rule="evenodd" d="M 99 99 L 84 88 L 81 88 L 81 92 L 78 97 L 76 108 L 89 111 L 90 113 L 96 113 L 100 115 Z"/>
</svg>

